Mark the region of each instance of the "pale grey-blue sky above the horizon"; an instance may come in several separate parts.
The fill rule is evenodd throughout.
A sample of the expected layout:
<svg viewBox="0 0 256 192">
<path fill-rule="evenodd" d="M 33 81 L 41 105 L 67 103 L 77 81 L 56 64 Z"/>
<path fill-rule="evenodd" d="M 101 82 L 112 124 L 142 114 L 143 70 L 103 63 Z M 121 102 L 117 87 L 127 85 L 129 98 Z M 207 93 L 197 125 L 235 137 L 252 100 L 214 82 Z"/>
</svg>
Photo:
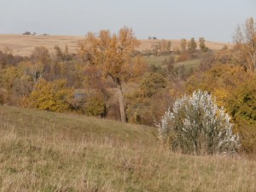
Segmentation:
<svg viewBox="0 0 256 192">
<path fill-rule="evenodd" d="M 137 38 L 231 42 L 248 17 L 256 20 L 256 0 L 0 0 L 1 34 L 84 36 L 129 26 Z"/>
</svg>

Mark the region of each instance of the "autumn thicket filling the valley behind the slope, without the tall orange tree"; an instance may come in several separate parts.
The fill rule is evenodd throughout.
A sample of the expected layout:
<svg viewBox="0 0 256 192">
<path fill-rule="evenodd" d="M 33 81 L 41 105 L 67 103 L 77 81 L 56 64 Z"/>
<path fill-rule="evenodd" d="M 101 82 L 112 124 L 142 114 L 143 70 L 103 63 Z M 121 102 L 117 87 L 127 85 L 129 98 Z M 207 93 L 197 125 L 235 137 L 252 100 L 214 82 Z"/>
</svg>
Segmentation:
<svg viewBox="0 0 256 192">
<path fill-rule="evenodd" d="M 251 24 L 251 20 L 247 22 Z M 126 75 L 122 89 L 127 121 L 155 125 L 178 97 L 201 89 L 215 96 L 218 108 L 224 107 L 225 113 L 230 114 L 233 131 L 240 136 L 242 150 L 255 153 L 256 67 L 247 55 L 255 54 L 256 32 L 253 32 L 250 34 L 254 37 L 251 42 L 244 39 L 237 41 L 234 49 L 215 52 L 206 52 L 203 44 L 200 44 L 201 49 L 195 49 L 193 39 L 189 44 L 183 39 L 181 47 L 170 55 L 170 60 L 157 67 L 145 65 L 140 53 L 131 51 L 131 55 L 137 55 L 136 58 L 123 60 L 122 68 Z M 155 44 L 154 49 L 160 47 L 160 55 L 169 51 L 171 46 L 165 42 Z M 116 91 L 118 79 L 106 71 L 103 73 L 101 67 L 91 65 L 92 55 L 86 52 L 85 47 L 80 49 L 83 49 L 83 55 L 71 55 L 67 47 L 62 50 L 55 46 L 55 54 L 50 55 L 48 49 L 37 47 L 30 57 L 14 56 L 9 49 L 0 51 L 0 103 L 120 119 Z M 109 58 L 111 56 L 115 55 L 108 55 Z M 194 57 L 201 59 L 201 66 L 196 69 L 175 65 L 177 61 Z M 141 67 L 134 65 L 135 60 Z M 119 72 L 118 69 L 111 70 Z M 78 90 L 81 90 L 79 94 Z"/>
</svg>

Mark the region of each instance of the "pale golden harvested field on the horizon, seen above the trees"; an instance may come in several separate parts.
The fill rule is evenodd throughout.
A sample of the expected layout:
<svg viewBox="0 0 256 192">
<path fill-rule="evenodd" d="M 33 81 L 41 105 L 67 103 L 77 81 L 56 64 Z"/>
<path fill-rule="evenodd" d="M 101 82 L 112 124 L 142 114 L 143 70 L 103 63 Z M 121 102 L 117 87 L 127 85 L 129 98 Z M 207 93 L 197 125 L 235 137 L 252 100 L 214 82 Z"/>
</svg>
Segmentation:
<svg viewBox="0 0 256 192">
<path fill-rule="evenodd" d="M 31 55 L 32 50 L 37 46 L 44 46 L 49 49 L 50 52 L 54 50 L 55 45 L 65 48 L 66 44 L 71 53 L 76 53 L 79 40 L 82 40 L 82 36 L 32 36 L 32 35 L 10 35 L 0 34 L 0 49 L 9 48 L 13 50 L 14 55 L 28 56 Z M 180 40 L 170 39 L 172 41 L 172 49 L 176 48 L 180 44 Z M 140 40 L 141 45 L 138 50 L 151 49 L 152 44 L 158 43 L 160 40 Z M 198 44 L 198 43 L 197 43 Z M 222 49 L 224 43 L 206 41 L 209 49 Z M 232 44 L 225 44 L 231 48 Z"/>
</svg>

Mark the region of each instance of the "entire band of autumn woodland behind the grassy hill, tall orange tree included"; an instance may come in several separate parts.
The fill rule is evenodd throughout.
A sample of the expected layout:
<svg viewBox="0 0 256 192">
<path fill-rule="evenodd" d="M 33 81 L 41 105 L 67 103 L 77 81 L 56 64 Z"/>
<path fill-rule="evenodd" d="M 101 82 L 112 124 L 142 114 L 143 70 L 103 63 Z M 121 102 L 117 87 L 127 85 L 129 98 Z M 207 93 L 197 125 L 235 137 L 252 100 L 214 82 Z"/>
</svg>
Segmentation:
<svg viewBox="0 0 256 192">
<path fill-rule="evenodd" d="M 219 113 L 230 115 L 239 150 L 256 153 L 255 20 L 248 18 L 234 29 L 233 40 L 232 49 L 216 50 L 203 37 L 182 38 L 175 47 L 163 39 L 139 51 L 140 42 L 125 26 L 117 34 L 89 32 L 75 54 L 58 45 L 53 54 L 38 46 L 30 56 L 13 55 L 6 48 L 0 50 L 0 104 L 153 126 L 166 111 L 176 114 L 172 106 L 178 98 L 189 101 L 183 96 L 200 90 L 212 96 Z M 172 143 L 177 146 L 189 150 Z M 211 154 L 216 148 L 208 150 Z"/>
</svg>

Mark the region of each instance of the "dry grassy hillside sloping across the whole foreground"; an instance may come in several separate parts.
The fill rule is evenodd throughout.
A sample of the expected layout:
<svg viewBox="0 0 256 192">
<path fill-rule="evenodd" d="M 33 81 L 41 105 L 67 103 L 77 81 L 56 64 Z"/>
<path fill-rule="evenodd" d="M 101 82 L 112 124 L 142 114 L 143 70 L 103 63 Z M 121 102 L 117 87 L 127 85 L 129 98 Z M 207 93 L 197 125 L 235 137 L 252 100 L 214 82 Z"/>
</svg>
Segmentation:
<svg viewBox="0 0 256 192">
<path fill-rule="evenodd" d="M 256 161 L 169 153 L 152 127 L 0 106 L 0 191 L 255 191 Z"/>
</svg>

